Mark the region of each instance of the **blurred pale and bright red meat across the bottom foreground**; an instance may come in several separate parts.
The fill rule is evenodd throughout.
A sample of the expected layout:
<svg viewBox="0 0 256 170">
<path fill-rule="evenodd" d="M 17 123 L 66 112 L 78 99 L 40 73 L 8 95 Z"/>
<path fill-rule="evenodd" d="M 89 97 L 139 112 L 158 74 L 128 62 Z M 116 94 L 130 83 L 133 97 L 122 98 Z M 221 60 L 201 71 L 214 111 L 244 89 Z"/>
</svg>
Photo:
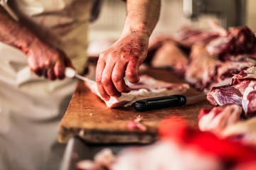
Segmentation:
<svg viewBox="0 0 256 170">
<path fill-rule="evenodd" d="M 106 170 L 234 170 L 256 166 L 254 147 L 220 140 L 209 132 L 189 127 L 183 120 L 169 118 L 162 121 L 159 136 L 159 141 L 154 144 L 127 147 L 115 157 L 101 152 L 105 159 L 94 159 L 94 162 Z M 97 157 L 102 156 L 97 154 Z"/>
</svg>

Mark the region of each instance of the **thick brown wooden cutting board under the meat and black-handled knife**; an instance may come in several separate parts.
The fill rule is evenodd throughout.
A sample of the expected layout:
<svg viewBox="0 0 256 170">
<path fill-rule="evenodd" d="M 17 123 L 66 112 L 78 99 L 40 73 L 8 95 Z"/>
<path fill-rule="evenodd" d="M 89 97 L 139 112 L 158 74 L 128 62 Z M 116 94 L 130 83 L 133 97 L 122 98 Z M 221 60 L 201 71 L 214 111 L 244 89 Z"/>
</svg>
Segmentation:
<svg viewBox="0 0 256 170">
<path fill-rule="evenodd" d="M 155 79 L 174 83 L 183 82 L 164 69 L 146 69 L 144 73 Z M 184 96 L 201 94 L 189 89 Z M 60 122 L 59 142 L 68 142 L 70 137 L 79 136 L 91 143 L 149 143 L 157 140 L 158 125 L 170 116 L 183 118 L 189 125 L 197 127 L 201 108 L 213 108 L 206 96 L 188 100 L 185 106 L 164 108 L 154 111 L 137 112 L 132 106 L 127 108 L 107 108 L 105 103 L 80 81 Z M 127 124 L 137 116 L 142 116 L 146 131 L 129 130 Z"/>
</svg>

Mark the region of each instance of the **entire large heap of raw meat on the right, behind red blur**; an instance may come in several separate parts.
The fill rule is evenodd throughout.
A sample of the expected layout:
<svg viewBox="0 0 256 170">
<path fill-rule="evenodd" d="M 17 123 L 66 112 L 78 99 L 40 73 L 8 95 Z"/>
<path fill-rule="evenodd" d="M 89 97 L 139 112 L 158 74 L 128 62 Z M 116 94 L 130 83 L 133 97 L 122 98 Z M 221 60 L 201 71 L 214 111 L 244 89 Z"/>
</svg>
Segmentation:
<svg viewBox="0 0 256 170">
<path fill-rule="evenodd" d="M 225 30 L 184 28 L 149 47 L 152 67 L 169 67 L 207 93 L 213 109 L 201 109 L 198 127 L 222 139 L 256 147 L 256 38 L 247 26 Z"/>
</svg>

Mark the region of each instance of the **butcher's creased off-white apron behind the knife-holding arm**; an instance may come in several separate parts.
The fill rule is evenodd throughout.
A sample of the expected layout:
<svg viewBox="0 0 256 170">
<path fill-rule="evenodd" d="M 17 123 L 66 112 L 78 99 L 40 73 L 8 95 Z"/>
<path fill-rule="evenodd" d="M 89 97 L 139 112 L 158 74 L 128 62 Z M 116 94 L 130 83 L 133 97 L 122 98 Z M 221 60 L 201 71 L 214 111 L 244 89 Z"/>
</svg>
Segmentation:
<svg viewBox="0 0 256 170">
<path fill-rule="evenodd" d="M 1 0 L 0 0 L 1 1 Z M 6 0 L 1 1 L 5 6 Z M 18 21 L 60 47 L 81 72 L 87 61 L 90 0 L 9 0 Z M 10 10 L 8 10 L 10 11 Z M 73 79 L 49 81 L 26 55 L 0 43 L 0 170 L 49 169 L 50 146 L 75 90 Z"/>
</svg>

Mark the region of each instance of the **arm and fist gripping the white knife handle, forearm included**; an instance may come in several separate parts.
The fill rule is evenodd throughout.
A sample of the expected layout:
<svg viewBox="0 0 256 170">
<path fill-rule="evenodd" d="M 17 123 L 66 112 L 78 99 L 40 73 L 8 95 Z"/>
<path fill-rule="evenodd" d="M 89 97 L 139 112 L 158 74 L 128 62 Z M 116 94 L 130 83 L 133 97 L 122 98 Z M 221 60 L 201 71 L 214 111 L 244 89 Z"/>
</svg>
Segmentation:
<svg viewBox="0 0 256 170">
<path fill-rule="evenodd" d="M 15 21 L 0 6 L 0 41 L 26 53 L 28 65 L 38 76 L 63 79 L 65 67 L 73 67 L 65 53 L 43 41 L 22 23 Z"/>
</svg>

